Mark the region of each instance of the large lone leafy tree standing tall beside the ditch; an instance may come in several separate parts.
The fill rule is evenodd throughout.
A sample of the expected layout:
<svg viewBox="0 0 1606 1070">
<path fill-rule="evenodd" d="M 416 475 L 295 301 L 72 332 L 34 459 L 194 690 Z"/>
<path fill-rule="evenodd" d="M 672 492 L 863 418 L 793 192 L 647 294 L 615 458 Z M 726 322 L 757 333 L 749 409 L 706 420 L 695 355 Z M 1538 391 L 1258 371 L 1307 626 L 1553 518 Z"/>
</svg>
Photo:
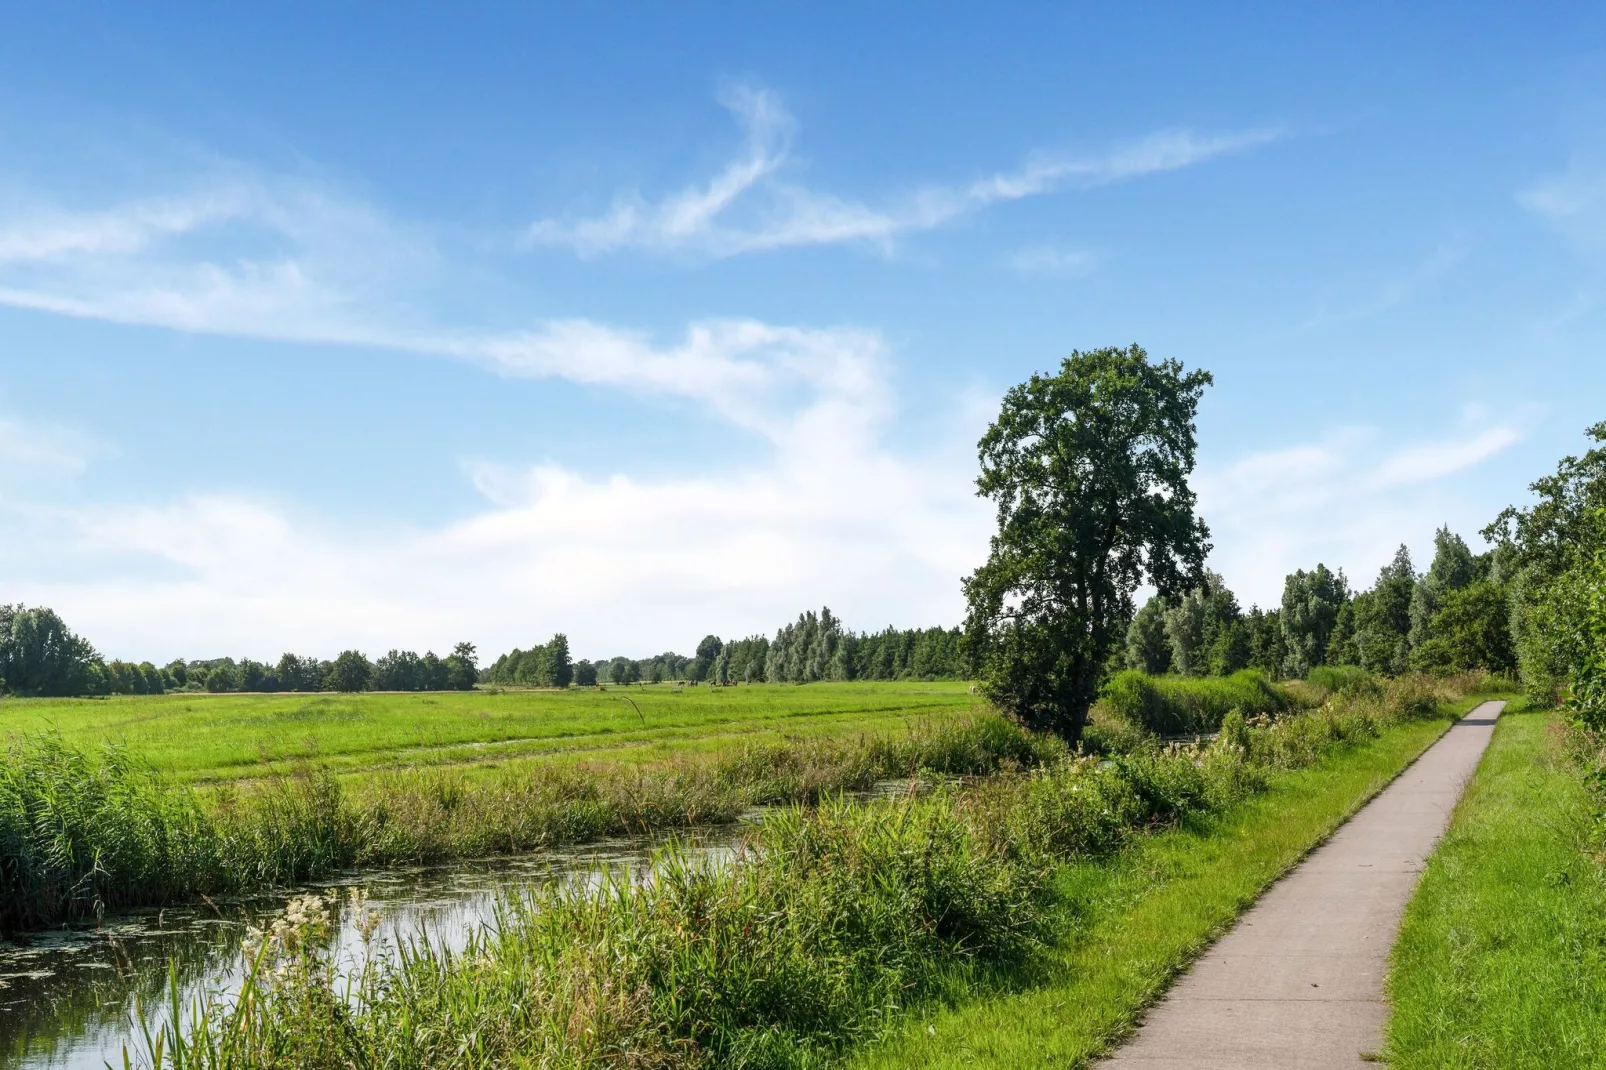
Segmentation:
<svg viewBox="0 0 1606 1070">
<path fill-rule="evenodd" d="M 1078 739 L 1137 586 L 1200 582 L 1188 474 L 1209 382 L 1131 345 L 1073 352 L 1004 395 L 978 443 L 997 533 L 965 580 L 965 636 L 983 692 L 1021 723 Z"/>
</svg>

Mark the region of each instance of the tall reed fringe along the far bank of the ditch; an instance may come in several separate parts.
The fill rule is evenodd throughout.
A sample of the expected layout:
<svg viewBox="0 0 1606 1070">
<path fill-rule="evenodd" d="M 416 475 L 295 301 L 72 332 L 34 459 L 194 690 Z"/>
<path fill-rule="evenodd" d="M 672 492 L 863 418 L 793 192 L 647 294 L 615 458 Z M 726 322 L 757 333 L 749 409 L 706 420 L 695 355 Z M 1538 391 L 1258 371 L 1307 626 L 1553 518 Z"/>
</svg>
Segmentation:
<svg viewBox="0 0 1606 1070">
<path fill-rule="evenodd" d="M 996 715 L 899 736 L 752 745 L 654 766 L 451 770 L 355 784 L 315 766 L 249 789 L 172 784 L 120 749 L 18 737 L 0 768 L 0 932 L 196 893 L 732 821 L 920 771 L 986 774 L 1065 747 Z"/>
</svg>

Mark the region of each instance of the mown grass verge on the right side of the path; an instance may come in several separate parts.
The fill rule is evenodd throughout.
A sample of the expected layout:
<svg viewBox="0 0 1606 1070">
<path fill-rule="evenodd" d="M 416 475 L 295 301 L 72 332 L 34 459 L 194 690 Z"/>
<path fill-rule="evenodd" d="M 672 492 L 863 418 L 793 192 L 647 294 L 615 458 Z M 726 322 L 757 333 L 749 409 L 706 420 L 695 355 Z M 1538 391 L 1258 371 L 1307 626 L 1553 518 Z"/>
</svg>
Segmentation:
<svg viewBox="0 0 1606 1070">
<path fill-rule="evenodd" d="M 1394 945 L 1399 1067 L 1606 1067 L 1606 877 L 1558 715 L 1508 709 Z"/>
</svg>

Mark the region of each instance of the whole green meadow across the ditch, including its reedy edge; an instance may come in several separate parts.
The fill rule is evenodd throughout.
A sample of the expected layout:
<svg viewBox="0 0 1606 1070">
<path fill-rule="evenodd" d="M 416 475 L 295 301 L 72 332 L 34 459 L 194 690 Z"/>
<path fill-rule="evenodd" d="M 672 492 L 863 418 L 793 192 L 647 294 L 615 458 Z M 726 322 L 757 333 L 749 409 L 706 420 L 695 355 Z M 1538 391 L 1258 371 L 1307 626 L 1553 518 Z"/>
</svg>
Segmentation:
<svg viewBox="0 0 1606 1070">
<path fill-rule="evenodd" d="M 6 700 L 0 718 L 0 932 L 1065 752 L 964 684 L 919 683 Z"/>
</svg>

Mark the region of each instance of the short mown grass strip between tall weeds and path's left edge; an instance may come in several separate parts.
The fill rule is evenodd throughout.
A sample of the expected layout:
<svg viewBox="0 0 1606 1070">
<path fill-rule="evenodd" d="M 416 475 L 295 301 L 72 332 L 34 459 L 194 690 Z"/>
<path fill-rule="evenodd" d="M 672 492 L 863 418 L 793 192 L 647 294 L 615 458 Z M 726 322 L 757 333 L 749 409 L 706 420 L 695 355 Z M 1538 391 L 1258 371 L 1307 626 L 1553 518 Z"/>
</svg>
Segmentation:
<svg viewBox="0 0 1606 1070">
<path fill-rule="evenodd" d="M 1465 713 L 1486 696 L 1449 707 Z M 1405 723 L 1278 774 L 1266 794 L 1148 837 L 1113 863 L 1058 876 L 1062 938 L 1034 977 L 986 998 L 912 1017 L 858 1052 L 858 1070 L 1079 1067 L 1124 1036 L 1137 1014 L 1256 896 L 1376 795 L 1449 726 Z"/>
</svg>

